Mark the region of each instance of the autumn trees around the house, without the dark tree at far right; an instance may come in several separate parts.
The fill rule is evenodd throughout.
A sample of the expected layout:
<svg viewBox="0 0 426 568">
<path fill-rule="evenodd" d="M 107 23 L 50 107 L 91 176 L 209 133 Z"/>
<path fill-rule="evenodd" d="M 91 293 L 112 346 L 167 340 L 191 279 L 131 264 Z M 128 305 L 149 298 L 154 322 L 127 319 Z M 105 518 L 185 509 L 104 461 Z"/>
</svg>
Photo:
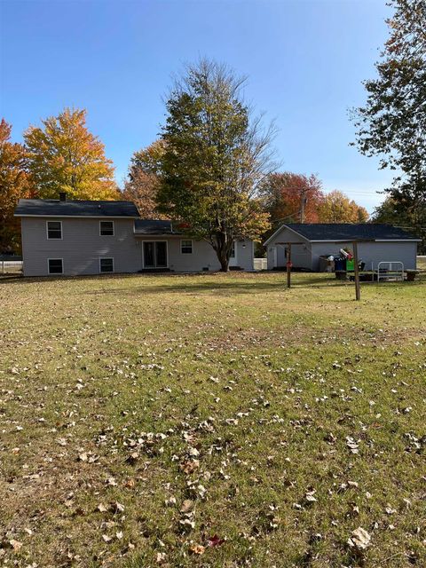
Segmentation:
<svg viewBox="0 0 426 568">
<path fill-rule="evenodd" d="M 188 67 L 170 92 L 161 138 L 135 152 L 123 187 L 86 111 L 66 108 L 30 126 L 23 144 L 0 122 L 0 250 L 20 248 L 20 198 L 130 200 L 141 217 L 173 218 L 209 241 L 223 270 L 235 239 L 261 240 L 280 222 L 364 222 L 367 210 L 318 177 L 277 171 L 273 125 L 241 96 L 244 80 L 208 60 Z"/>
</svg>

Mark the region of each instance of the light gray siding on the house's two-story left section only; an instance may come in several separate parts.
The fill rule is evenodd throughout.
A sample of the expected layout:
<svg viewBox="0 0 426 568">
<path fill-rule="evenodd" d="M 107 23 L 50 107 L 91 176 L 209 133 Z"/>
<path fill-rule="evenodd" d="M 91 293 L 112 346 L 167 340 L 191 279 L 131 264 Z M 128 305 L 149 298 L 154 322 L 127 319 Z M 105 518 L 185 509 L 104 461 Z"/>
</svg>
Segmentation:
<svg viewBox="0 0 426 568">
<path fill-rule="evenodd" d="M 48 240 L 46 221 L 62 222 L 62 239 Z M 133 219 L 114 219 L 114 236 L 99 235 L 99 218 L 22 217 L 25 276 L 46 276 L 47 259 L 63 258 L 64 274 L 99 274 L 99 258 L 114 258 L 114 272 L 138 272 L 140 245 Z"/>
</svg>

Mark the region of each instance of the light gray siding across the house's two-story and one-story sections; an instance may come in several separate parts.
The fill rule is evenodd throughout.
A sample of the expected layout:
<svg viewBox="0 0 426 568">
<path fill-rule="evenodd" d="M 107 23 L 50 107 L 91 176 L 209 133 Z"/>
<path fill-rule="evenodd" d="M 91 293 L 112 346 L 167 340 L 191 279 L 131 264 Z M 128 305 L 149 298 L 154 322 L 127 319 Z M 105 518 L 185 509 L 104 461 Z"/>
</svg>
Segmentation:
<svg viewBox="0 0 426 568">
<path fill-rule="evenodd" d="M 61 221 L 62 239 L 48 239 L 46 221 Z M 143 241 L 167 241 L 168 267 L 175 272 L 217 271 L 220 264 L 206 241 L 193 240 L 193 253 L 181 250 L 180 237 L 135 238 L 134 219 L 114 218 L 114 235 L 101 236 L 99 221 L 106 218 L 22 217 L 22 254 L 25 276 L 47 276 L 48 259 L 62 258 L 63 273 L 99 274 L 100 258 L 114 259 L 114 272 L 138 272 L 143 264 Z M 253 242 L 237 241 L 233 263 L 253 270 Z"/>
</svg>

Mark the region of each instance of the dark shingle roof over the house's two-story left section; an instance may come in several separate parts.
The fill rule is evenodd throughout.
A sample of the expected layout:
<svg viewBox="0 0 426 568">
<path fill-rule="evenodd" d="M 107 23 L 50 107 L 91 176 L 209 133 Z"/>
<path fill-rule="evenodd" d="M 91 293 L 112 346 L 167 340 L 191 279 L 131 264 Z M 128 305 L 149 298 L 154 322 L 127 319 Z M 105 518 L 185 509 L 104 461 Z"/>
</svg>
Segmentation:
<svg viewBox="0 0 426 568">
<path fill-rule="evenodd" d="M 131 201 L 59 201 L 20 199 L 15 216 L 40 217 L 139 217 Z"/>
</svg>

